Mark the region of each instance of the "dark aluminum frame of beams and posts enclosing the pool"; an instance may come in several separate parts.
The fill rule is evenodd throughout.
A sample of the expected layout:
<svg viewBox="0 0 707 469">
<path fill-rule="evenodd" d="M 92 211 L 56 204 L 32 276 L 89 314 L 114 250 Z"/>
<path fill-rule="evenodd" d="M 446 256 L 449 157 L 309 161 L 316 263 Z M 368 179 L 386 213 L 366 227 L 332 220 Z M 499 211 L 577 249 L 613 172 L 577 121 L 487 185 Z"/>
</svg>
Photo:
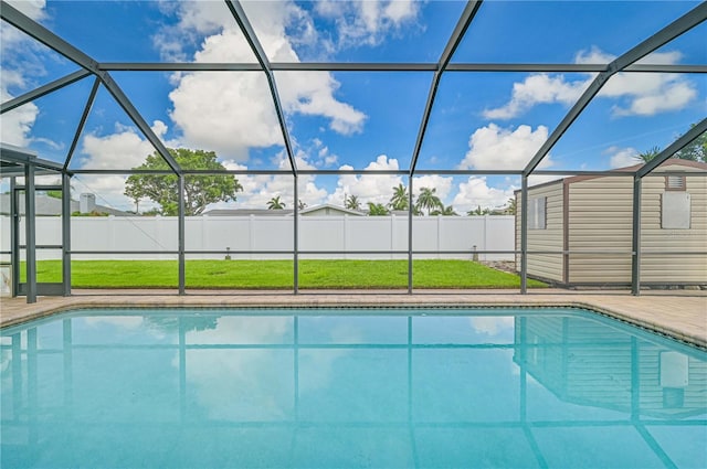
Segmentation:
<svg viewBox="0 0 707 469">
<path fill-rule="evenodd" d="M 537 167 L 547 157 L 550 149 L 558 142 L 562 135 L 572 126 L 574 120 L 581 115 L 583 109 L 592 102 L 597 94 L 601 90 L 603 85 L 614 74 L 622 73 L 707 73 L 707 64 L 694 64 L 694 65 L 664 65 L 664 64 L 636 64 L 636 61 L 657 50 L 662 45 L 668 43 L 680 34 L 689 31 L 696 25 L 707 20 L 707 2 L 703 2 L 694 8 L 688 13 L 678 18 L 667 26 L 655 32 L 645 41 L 641 42 L 630 51 L 612 61 L 609 64 L 482 64 L 482 63 L 451 63 L 451 60 L 456 51 L 458 44 L 464 38 L 469 25 L 473 24 L 474 18 L 479 10 L 483 0 L 468 1 L 457 21 L 457 24 L 449 39 L 444 51 L 442 52 L 440 60 L 436 63 L 272 63 L 268 61 L 265 51 L 260 43 L 256 32 L 252 28 L 247 15 L 245 14 L 243 7 L 236 0 L 224 0 L 226 8 L 233 17 L 234 22 L 241 29 L 241 32 L 245 36 L 252 52 L 254 53 L 257 63 L 99 63 L 93 57 L 88 56 L 77 47 L 67 43 L 62 38 L 57 36 L 40 23 L 31 20 L 19 10 L 7 3 L 0 1 L 0 18 L 14 28 L 27 33 L 40 43 L 49 46 L 56 53 L 74 62 L 80 68 L 64 77 L 55 79 L 46 85 L 40 86 L 22 96 L 9 99 L 0 104 L 0 115 L 11 109 L 14 109 L 24 104 L 31 103 L 42 96 L 51 94 L 57 89 L 68 86 L 73 83 L 80 82 L 89 76 L 94 77 L 94 83 L 84 106 L 84 110 L 80 120 L 80 124 L 74 134 L 71 147 L 67 151 L 64 164 L 61 167 L 60 172 L 63 175 L 62 184 L 65 188 L 70 188 L 71 177 L 74 174 L 129 174 L 140 173 L 140 171 L 125 171 L 125 170 L 68 170 L 68 166 L 76 146 L 84 129 L 87 116 L 91 111 L 91 107 L 96 97 L 96 93 L 101 86 L 105 87 L 113 96 L 115 102 L 126 111 L 127 116 L 133 120 L 135 126 L 140 130 L 144 137 L 152 145 L 157 152 L 162 157 L 170 168 L 169 171 L 165 171 L 166 174 L 176 174 L 179 181 L 180 204 L 178 215 L 178 251 L 177 256 L 179 259 L 179 285 L 178 291 L 180 295 L 186 294 L 186 273 L 184 273 L 184 257 L 190 254 L 186 249 L 184 243 L 184 177 L 189 174 L 202 174 L 209 173 L 204 171 L 186 170 L 181 168 L 177 161 L 171 157 L 169 150 L 163 145 L 161 139 L 151 130 L 143 115 L 133 105 L 130 99 L 125 95 L 123 89 L 113 79 L 112 71 L 238 71 L 238 72 L 254 72 L 264 73 L 268 83 L 273 105 L 277 115 L 278 125 L 283 135 L 284 146 L 287 152 L 287 157 L 291 164 L 289 171 L 225 171 L 219 173 L 228 174 L 282 174 L 293 178 L 295 200 L 298 200 L 297 185 L 299 174 L 398 174 L 408 178 L 408 188 L 410 192 L 410 207 L 409 207 L 409 225 L 408 225 L 408 292 L 413 291 L 412 281 L 412 260 L 413 255 L 419 254 L 412 246 L 413 239 L 413 213 L 412 213 L 412 183 L 413 177 L 419 174 L 451 174 L 451 175 L 465 175 L 465 174 L 513 174 L 521 178 L 521 198 L 527 200 L 528 191 L 528 178 L 530 175 L 540 174 L 601 174 L 601 175 L 622 175 L 625 177 L 625 172 L 614 171 L 548 171 L 538 170 Z M 425 103 L 424 111 L 421 116 L 420 129 L 415 139 L 414 150 L 411 156 L 411 164 L 408 170 L 400 171 L 361 171 L 361 170 L 300 170 L 296 166 L 294 150 L 287 130 L 285 114 L 281 103 L 279 93 L 276 86 L 276 79 L 274 72 L 277 71 L 326 71 L 326 72 L 432 72 L 433 77 L 430 85 L 429 96 Z M 593 72 L 599 75 L 591 83 L 589 88 L 581 95 L 581 97 L 574 103 L 561 122 L 553 129 L 549 138 L 540 147 L 537 153 L 528 162 L 528 164 L 518 171 L 493 171 L 493 170 L 418 170 L 416 163 L 420 156 L 421 148 L 424 143 L 426 126 L 430 119 L 432 109 L 434 108 L 434 100 L 436 90 L 442 76 L 446 73 L 467 73 L 467 72 Z M 689 145 L 694 139 L 699 137 L 707 130 L 707 119 L 696 125 L 690 131 L 683 137 L 678 138 L 675 142 L 663 150 L 651 163 L 645 164 L 642 169 L 636 171 L 634 175 L 634 196 L 633 196 L 633 221 L 632 221 L 632 294 L 640 295 L 641 280 L 640 280 L 640 212 L 641 212 L 641 181 L 644 177 L 648 175 L 655 170 L 662 162 L 680 150 L 685 146 Z M 41 166 L 36 166 L 41 167 Z M 27 169 L 31 168 L 31 169 Z M 32 182 L 29 182 L 28 188 L 33 184 L 33 174 L 35 166 L 25 166 L 25 178 L 32 178 Z M 53 170 L 55 168 L 52 168 Z M 157 172 L 151 172 L 157 173 Z M 615 173 L 615 174 L 614 174 Z M 66 202 L 68 203 L 68 202 Z M 528 204 L 524 203 L 520 207 L 520 249 L 514 251 L 514 254 L 519 254 L 521 258 L 520 263 L 520 292 L 527 292 L 527 256 L 531 254 L 528 252 Z M 310 254 L 315 252 L 303 252 L 298 249 L 298 206 L 295 203 L 295 216 L 294 223 L 294 239 L 293 239 L 293 259 L 294 259 L 294 294 L 298 292 L 298 258 L 300 254 Z M 28 205 L 29 207 L 29 205 Z M 65 217 L 63 233 L 65 239 L 71 236 L 70 220 Z M 34 256 L 33 243 L 30 245 L 28 238 L 28 259 L 30 251 Z M 149 253 L 149 252 L 141 252 Z M 383 253 L 383 252 L 381 252 Z M 483 252 L 479 252 L 483 253 Z M 489 252 L 490 253 L 490 252 Z M 63 256 L 64 259 L 71 258 L 71 247 L 64 246 Z M 71 279 L 71 266 L 70 263 L 65 263 L 68 267 L 64 269 L 64 279 Z M 28 277 L 29 278 L 29 277 Z M 70 281 L 70 280 L 68 280 Z M 65 295 L 71 295 L 71 287 L 65 288 Z M 28 295 L 28 301 L 30 301 L 30 295 Z"/>
</svg>

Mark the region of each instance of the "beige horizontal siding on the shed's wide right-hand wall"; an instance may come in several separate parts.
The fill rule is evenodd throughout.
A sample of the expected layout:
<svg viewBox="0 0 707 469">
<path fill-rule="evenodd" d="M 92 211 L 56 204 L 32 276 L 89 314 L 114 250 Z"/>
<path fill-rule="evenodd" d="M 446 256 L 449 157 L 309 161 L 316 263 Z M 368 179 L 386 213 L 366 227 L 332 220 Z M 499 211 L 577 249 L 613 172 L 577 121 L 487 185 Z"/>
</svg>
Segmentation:
<svg viewBox="0 0 707 469">
<path fill-rule="evenodd" d="M 683 168 L 680 168 L 683 170 Z M 687 171 L 695 170 L 688 168 Z M 666 255 L 707 251 L 707 178 L 687 177 L 692 201 L 689 230 L 661 227 L 661 198 L 665 178 L 646 177 L 641 201 L 641 281 L 655 284 L 707 283 L 707 256 Z M 568 236 L 570 251 L 616 252 L 572 254 L 570 284 L 627 284 L 631 281 L 633 179 L 595 178 L 569 184 Z"/>
</svg>

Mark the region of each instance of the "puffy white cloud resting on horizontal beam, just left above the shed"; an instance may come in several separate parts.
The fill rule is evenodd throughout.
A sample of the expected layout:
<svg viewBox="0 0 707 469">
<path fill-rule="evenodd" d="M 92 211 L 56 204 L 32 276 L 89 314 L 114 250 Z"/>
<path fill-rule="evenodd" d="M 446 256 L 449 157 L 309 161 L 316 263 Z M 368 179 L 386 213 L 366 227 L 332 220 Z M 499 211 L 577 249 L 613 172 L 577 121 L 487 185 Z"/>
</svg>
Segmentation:
<svg viewBox="0 0 707 469">
<path fill-rule="evenodd" d="M 478 128 L 468 140 L 469 150 L 462 160 L 461 169 L 523 169 L 535 156 L 548 138 L 548 129 L 538 126 L 532 130 L 530 126 L 500 128 L 496 124 Z M 548 154 L 540 168 L 552 166 Z"/>
</svg>

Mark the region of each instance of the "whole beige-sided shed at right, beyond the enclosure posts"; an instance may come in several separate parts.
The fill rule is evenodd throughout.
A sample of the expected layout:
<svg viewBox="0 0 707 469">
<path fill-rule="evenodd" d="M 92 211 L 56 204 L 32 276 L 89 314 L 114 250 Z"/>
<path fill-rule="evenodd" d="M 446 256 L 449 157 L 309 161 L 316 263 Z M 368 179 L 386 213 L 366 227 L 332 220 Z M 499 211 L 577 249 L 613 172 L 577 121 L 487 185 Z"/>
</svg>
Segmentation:
<svg viewBox="0 0 707 469">
<path fill-rule="evenodd" d="M 528 275 L 574 287 L 631 285 L 632 174 L 640 168 L 529 188 Z M 706 170 L 706 163 L 672 158 L 645 179 L 639 216 L 643 286 L 707 285 Z M 521 205 L 520 192 L 516 198 Z M 520 244 L 518 228 L 516 239 Z"/>
</svg>

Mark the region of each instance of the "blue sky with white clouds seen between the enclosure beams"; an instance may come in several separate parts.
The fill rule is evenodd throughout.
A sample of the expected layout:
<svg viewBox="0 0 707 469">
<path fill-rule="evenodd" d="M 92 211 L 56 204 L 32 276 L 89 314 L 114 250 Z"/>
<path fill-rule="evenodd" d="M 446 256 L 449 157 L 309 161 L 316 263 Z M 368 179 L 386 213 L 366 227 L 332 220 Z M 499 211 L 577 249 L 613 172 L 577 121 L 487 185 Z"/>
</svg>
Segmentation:
<svg viewBox="0 0 707 469">
<path fill-rule="evenodd" d="M 98 62 L 255 62 L 220 1 L 13 1 L 25 14 Z M 486 1 L 457 63 L 608 63 L 698 2 Z M 436 62 L 464 8 L 458 1 L 243 2 L 272 62 Z M 3 100 L 77 68 L 2 23 Z M 707 24 L 644 58 L 706 64 Z M 115 81 L 169 147 L 217 151 L 230 169 L 281 169 L 288 162 L 267 82 L 258 72 L 113 72 Z M 419 169 L 518 170 L 535 154 L 591 81 L 582 73 L 446 73 L 440 84 Z M 432 74 L 276 72 L 300 169 L 408 169 Z M 2 140 L 63 161 L 93 78 L 2 116 Z M 618 74 L 550 154 L 544 169 L 605 170 L 669 145 L 707 114 L 707 77 Z M 74 169 L 130 169 L 151 147 L 101 89 Z M 239 177 L 236 206 L 264 207 L 288 178 Z M 120 175 L 80 175 L 77 192 L 130 209 Z M 540 181 L 536 178 L 536 181 Z M 345 194 L 387 202 L 395 175 L 300 177 L 309 205 Z M 518 178 L 415 178 L 464 213 L 499 206 Z M 149 204 L 140 204 L 141 207 Z"/>
</svg>

